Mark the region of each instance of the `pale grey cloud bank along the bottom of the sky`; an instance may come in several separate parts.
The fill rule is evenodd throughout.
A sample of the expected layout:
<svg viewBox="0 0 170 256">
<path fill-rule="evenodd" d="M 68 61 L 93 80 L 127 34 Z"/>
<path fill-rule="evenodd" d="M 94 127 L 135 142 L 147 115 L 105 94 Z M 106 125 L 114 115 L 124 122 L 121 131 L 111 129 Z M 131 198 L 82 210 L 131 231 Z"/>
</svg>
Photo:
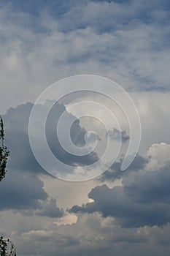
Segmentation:
<svg viewBox="0 0 170 256">
<path fill-rule="evenodd" d="M 169 224 L 163 227 L 123 228 L 112 218 L 99 214 L 83 214 L 74 225 L 47 226 L 25 230 L 18 237 L 20 254 L 30 255 L 131 255 L 134 250 L 142 256 L 169 252 Z M 28 246 L 31 243 L 32 246 Z M 163 244 L 165 243 L 165 244 Z M 39 246 L 37 246 L 39 244 Z M 163 247 L 162 247 L 163 246 Z"/>
</svg>

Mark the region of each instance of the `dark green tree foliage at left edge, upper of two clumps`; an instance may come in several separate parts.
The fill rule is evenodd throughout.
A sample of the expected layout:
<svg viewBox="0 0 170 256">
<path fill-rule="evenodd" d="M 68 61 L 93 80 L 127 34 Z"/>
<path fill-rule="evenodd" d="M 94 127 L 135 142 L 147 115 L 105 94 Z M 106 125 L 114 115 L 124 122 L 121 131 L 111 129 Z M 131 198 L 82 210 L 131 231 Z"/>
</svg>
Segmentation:
<svg viewBox="0 0 170 256">
<path fill-rule="evenodd" d="M 9 156 L 9 149 L 4 146 L 4 124 L 0 116 L 0 181 L 5 177 L 7 172 L 6 165 Z"/>
</svg>

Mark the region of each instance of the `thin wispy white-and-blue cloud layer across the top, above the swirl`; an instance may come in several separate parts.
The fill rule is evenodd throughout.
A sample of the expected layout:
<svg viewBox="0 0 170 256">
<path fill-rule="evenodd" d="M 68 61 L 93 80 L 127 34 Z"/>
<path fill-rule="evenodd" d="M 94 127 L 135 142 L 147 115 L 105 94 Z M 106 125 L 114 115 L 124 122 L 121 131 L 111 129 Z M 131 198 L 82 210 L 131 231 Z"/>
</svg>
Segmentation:
<svg viewBox="0 0 170 256">
<path fill-rule="evenodd" d="M 103 75 L 126 89 L 169 90 L 166 1 L 154 7 L 142 1 L 44 3 L 2 4 L 1 111 L 9 102 L 33 102 L 69 75 Z"/>
</svg>

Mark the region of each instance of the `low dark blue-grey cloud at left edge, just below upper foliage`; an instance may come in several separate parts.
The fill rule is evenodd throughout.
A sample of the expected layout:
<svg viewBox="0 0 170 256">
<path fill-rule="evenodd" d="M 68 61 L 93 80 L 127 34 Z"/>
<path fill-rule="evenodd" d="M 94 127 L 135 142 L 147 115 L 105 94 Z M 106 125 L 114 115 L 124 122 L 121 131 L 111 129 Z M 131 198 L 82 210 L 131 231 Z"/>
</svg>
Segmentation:
<svg viewBox="0 0 170 256">
<path fill-rule="evenodd" d="M 41 208 L 39 200 L 46 200 L 43 182 L 22 171 L 9 171 L 0 184 L 0 209 L 32 210 Z"/>
</svg>

